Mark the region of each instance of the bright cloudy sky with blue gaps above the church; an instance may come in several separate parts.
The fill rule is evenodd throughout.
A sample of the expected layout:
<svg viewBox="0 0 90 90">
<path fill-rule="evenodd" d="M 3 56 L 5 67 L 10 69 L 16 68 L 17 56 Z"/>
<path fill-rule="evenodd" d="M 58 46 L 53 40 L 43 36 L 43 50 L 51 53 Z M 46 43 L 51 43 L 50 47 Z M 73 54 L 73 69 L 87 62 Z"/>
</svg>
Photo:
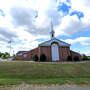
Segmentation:
<svg viewBox="0 0 90 90">
<path fill-rule="evenodd" d="M 56 38 L 71 50 L 90 55 L 90 0 L 0 0 L 0 52 L 30 50 Z"/>
</svg>

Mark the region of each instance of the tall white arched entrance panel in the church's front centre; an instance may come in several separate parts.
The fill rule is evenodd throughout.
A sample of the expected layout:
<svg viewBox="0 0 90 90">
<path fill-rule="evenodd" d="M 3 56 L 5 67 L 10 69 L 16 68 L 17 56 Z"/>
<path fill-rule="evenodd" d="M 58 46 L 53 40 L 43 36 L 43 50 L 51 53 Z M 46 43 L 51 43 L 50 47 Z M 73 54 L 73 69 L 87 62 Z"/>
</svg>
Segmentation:
<svg viewBox="0 0 90 90">
<path fill-rule="evenodd" d="M 52 61 L 59 61 L 59 50 L 57 44 L 52 44 Z"/>
</svg>

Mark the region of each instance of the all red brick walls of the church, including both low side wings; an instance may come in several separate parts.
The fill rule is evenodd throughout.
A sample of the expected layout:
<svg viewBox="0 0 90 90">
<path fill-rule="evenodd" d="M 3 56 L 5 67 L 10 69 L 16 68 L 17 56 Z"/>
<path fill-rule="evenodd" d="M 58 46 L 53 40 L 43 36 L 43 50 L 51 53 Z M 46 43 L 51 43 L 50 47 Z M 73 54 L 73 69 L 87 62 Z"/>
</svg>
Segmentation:
<svg viewBox="0 0 90 90">
<path fill-rule="evenodd" d="M 58 44 L 57 44 L 58 45 Z M 81 56 L 80 54 L 71 51 L 69 47 L 64 47 L 64 46 L 59 46 L 59 58 L 60 61 L 67 61 L 67 57 L 68 56 L 72 56 L 72 58 L 74 58 L 74 56 L 78 56 L 79 59 L 81 60 Z M 26 54 L 26 57 L 24 57 L 24 55 Z M 39 46 L 38 48 L 35 48 L 31 51 L 28 51 L 26 53 L 24 53 L 21 56 L 16 56 L 16 59 L 18 60 L 32 60 L 32 56 L 37 54 L 39 59 L 40 59 L 40 54 L 45 54 L 47 57 L 47 61 L 52 61 L 52 55 L 51 55 L 51 46 Z"/>
</svg>

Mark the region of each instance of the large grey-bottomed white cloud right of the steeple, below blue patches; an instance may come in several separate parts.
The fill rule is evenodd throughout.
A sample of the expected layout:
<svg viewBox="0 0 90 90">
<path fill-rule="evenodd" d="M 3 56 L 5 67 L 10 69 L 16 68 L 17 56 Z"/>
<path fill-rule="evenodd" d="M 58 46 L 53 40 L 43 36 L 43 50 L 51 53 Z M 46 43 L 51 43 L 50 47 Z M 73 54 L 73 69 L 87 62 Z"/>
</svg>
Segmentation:
<svg viewBox="0 0 90 90">
<path fill-rule="evenodd" d="M 62 18 L 60 26 L 57 27 L 57 35 L 60 35 L 60 32 L 63 32 L 62 34 L 71 36 L 85 31 L 89 28 L 90 21 L 85 22 L 83 19 L 79 20 L 76 15 L 67 15 Z"/>
</svg>

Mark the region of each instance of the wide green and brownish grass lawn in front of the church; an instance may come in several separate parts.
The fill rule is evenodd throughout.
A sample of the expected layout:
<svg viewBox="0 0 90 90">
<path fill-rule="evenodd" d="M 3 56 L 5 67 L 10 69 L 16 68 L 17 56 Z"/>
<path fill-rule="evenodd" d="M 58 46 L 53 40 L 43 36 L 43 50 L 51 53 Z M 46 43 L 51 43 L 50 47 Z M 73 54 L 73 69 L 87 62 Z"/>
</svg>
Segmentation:
<svg viewBox="0 0 90 90">
<path fill-rule="evenodd" d="M 0 62 L 0 85 L 90 84 L 90 62 L 55 64 Z"/>
</svg>

